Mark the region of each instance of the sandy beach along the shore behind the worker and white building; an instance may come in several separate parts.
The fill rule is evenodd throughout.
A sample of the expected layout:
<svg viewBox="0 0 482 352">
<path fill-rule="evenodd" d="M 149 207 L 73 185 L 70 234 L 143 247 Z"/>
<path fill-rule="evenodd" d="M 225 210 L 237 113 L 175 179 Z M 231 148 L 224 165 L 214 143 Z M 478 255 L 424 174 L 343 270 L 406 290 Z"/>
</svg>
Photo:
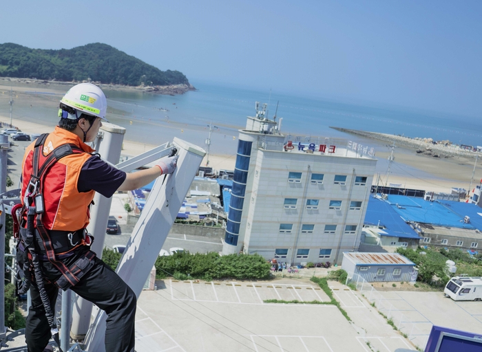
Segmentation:
<svg viewBox="0 0 482 352">
<path fill-rule="evenodd" d="M 41 121 L 41 118 L 36 118 L 38 122 L 26 121 L 24 120 L 24 116 L 29 116 L 30 111 L 39 111 L 42 109 L 45 109 L 45 111 L 51 114 L 51 111 L 55 111 L 58 106 L 57 104 L 62 94 L 64 94 L 72 84 L 42 84 L 41 88 L 39 88 L 39 83 L 25 84 L 10 82 L 4 79 L 0 80 L 0 122 L 5 124 L 10 124 L 10 116 L 8 114 L 10 109 L 8 104 L 10 85 L 14 90 L 15 113 L 12 118 L 12 124 L 25 133 L 48 133 L 52 131 L 56 124 L 56 120 L 52 119 L 52 116 L 50 116 L 50 120 L 48 121 Z M 32 90 L 32 88 L 41 89 L 48 94 L 44 96 L 31 96 L 28 92 Z M 123 87 L 116 87 L 116 89 L 123 89 Z M 125 89 L 135 88 L 127 87 Z M 19 113 L 19 111 L 21 111 L 21 113 Z M 19 114 L 21 115 L 19 116 Z M 116 114 L 119 114 L 119 112 L 108 110 L 107 118 L 109 118 L 109 115 Z M 187 140 L 206 149 L 206 146 L 203 144 L 205 139 L 203 133 L 205 131 L 200 133 L 198 126 L 189 126 L 189 124 L 178 126 L 176 123 L 171 123 L 166 124 L 164 127 L 163 131 L 165 134 L 160 136 L 160 141 L 167 142 L 172 140 L 174 135 L 177 135 L 183 140 Z M 218 138 L 218 140 L 216 140 L 216 138 Z M 227 142 L 229 142 L 229 148 L 227 148 Z M 216 170 L 233 170 L 235 165 L 235 145 L 237 143 L 237 136 L 224 135 L 223 139 L 221 135 L 213 135 L 209 153 L 209 166 Z M 154 148 L 154 146 L 154 144 L 145 144 L 143 141 L 129 140 L 127 131 L 121 155 L 132 157 L 148 151 Z M 450 193 L 452 187 L 468 189 L 470 186 L 470 179 L 472 178 L 472 172 L 474 170 L 473 158 L 434 158 L 427 155 L 419 155 L 415 149 L 412 148 L 396 148 L 394 153 L 395 161 L 390 166 L 390 175 L 387 177 L 386 170 L 388 170 L 388 162 L 386 159 L 388 159 L 389 155 L 390 151 L 388 148 L 377 148 L 376 158 L 379 159 L 377 163 L 379 166 L 377 167 L 377 175 L 374 175 L 374 184 L 376 184 L 378 180 L 379 185 L 389 186 L 391 184 L 392 186 L 397 185 L 406 188 L 446 193 Z M 207 156 L 202 161 L 201 166 L 207 166 Z M 482 167 L 476 166 L 471 187 L 474 188 L 474 186 L 479 185 L 481 178 Z"/>
</svg>

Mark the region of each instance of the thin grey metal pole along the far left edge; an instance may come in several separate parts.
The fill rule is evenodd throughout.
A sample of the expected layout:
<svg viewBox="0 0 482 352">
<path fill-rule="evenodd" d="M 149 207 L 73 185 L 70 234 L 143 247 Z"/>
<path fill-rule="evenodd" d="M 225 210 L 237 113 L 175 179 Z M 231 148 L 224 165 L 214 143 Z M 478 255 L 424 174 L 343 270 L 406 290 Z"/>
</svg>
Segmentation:
<svg viewBox="0 0 482 352">
<path fill-rule="evenodd" d="M 0 134 L 0 194 L 5 193 L 7 190 L 7 160 L 8 160 L 8 135 Z M 3 201 L 1 202 L 1 215 L 0 215 L 0 340 L 5 339 L 5 315 L 3 311 L 5 309 L 5 224 L 6 214 L 3 207 Z"/>
</svg>

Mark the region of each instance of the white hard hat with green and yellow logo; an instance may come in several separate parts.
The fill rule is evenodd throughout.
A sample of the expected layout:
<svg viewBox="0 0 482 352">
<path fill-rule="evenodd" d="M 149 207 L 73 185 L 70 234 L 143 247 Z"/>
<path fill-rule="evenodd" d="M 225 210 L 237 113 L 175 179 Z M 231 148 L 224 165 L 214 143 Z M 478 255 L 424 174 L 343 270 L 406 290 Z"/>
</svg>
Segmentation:
<svg viewBox="0 0 482 352">
<path fill-rule="evenodd" d="M 62 104 L 72 107 L 81 113 L 96 116 L 107 121 L 107 99 L 105 94 L 92 83 L 81 83 L 70 88 L 61 100 Z"/>
</svg>

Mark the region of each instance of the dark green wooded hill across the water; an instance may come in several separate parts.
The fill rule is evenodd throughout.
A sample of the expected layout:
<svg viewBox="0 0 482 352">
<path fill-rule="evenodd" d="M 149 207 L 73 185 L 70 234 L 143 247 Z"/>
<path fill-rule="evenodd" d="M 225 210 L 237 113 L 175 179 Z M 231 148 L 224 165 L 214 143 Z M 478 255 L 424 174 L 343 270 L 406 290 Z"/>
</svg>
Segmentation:
<svg viewBox="0 0 482 352">
<path fill-rule="evenodd" d="M 0 76 L 42 80 L 82 81 L 115 85 L 189 85 L 181 72 L 160 69 L 107 44 L 93 43 L 73 49 L 30 49 L 0 44 Z"/>
</svg>

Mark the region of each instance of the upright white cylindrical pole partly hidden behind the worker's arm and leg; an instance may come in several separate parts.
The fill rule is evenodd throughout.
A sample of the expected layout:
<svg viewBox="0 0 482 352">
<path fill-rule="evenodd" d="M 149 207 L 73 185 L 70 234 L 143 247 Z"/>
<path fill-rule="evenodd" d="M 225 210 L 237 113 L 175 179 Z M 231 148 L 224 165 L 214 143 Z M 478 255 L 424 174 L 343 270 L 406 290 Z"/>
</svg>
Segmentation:
<svg viewBox="0 0 482 352">
<path fill-rule="evenodd" d="M 112 164 L 118 163 L 121 157 L 124 134 L 125 128 L 116 126 L 115 124 L 103 123 L 101 133 L 99 133 L 96 140 L 96 151 L 98 151 L 105 161 Z M 95 205 L 90 208 L 91 217 L 87 231 L 95 237 L 95 241 L 92 243 L 92 250 L 96 252 L 99 259 L 102 259 L 105 229 L 107 228 L 111 203 L 112 198 L 106 198 L 100 193 L 96 193 L 94 196 Z M 72 304 L 72 300 L 70 300 L 70 303 Z M 70 307 L 69 311 L 71 309 L 72 307 Z M 91 315 L 92 303 L 76 296 L 76 303 L 74 305 L 74 311 L 72 312 L 72 328 L 70 331 L 70 336 L 72 336 L 74 340 L 83 340 L 89 329 Z"/>
</svg>

